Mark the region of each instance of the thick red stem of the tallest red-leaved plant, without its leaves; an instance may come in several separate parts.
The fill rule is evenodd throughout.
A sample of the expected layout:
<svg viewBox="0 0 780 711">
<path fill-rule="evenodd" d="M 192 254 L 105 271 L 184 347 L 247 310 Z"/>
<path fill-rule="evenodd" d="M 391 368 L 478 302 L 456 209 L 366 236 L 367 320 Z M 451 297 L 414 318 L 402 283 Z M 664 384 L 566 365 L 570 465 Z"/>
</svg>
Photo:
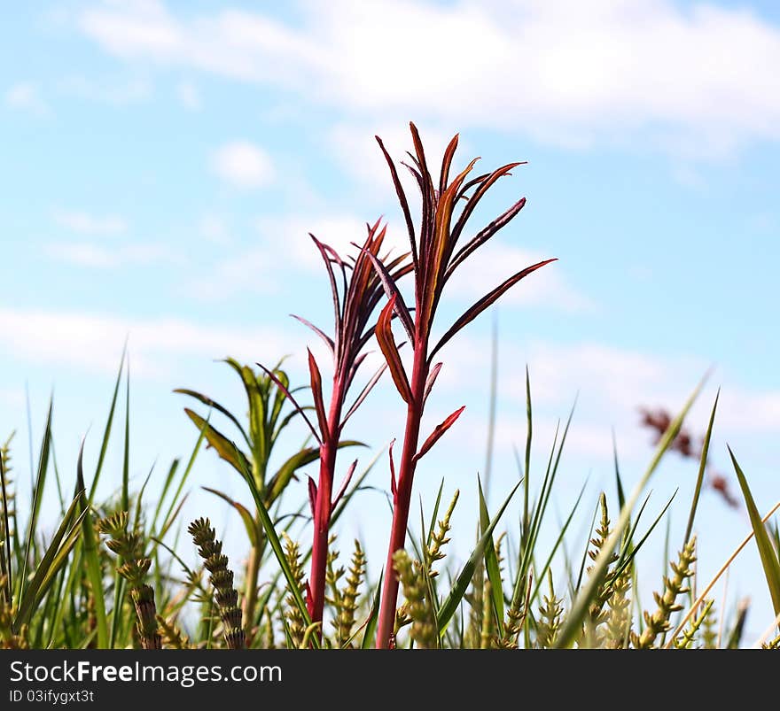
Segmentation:
<svg viewBox="0 0 780 711">
<path fill-rule="evenodd" d="M 411 402 L 406 413 L 406 431 L 403 436 L 403 452 L 398 468 L 398 481 L 393 501 L 393 526 L 390 530 L 390 545 L 387 549 L 385 582 L 382 585 L 382 601 L 379 607 L 377 626 L 377 649 L 387 649 L 395 630 L 395 606 L 398 602 L 398 576 L 393 567 L 393 556 L 406 543 L 406 529 L 409 522 L 412 483 L 417 467 L 417 444 L 420 438 L 420 424 L 423 417 L 425 381 L 428 378 L 427 342 L 420 339 L 416 344 L 412 369 Z"/>
</svg>

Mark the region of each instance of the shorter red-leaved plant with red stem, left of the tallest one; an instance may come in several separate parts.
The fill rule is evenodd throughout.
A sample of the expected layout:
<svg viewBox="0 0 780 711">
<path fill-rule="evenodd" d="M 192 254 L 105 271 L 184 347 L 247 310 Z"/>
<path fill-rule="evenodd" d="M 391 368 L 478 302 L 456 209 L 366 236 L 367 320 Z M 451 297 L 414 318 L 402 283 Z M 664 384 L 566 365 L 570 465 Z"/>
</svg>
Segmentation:
<svg viewBox="0 0 780 711">
<path fill-rule="evenodd" d="M 373 226 L 367 225 L 367 228 L 368 236 L 362 247 L 356 250 L 355 257 L 349 256 L 347 259 L 341 259 L 331 246 L 320 242 L 316 236 L 309 235 L 323 258 L 331 286 L 334 315 L 333 336 L 327 336 L 322 329 L 317 328 L 306 319 L 293 316 L 322 338 L 333 359 L 331 400 L 330 405 L 326 407 L 323 395 L 323 378 L 315 357 L 311 351 L 308 351 L 308 370 L 316 412 L 316 427 L 308 419 L 303 408 L 299 407 L 300 414 L 308 423 L 312 435 L 319 443 L 320 452 L 319 479 L 316 483 L 311 477 L 308 479 L 309 503 L 314 520 L 314 537 L 311 573 L 308 578 L 307 607 L 313 623 L 323 621 L 331 514 L 347 491 L 347 486 L 357 466 L 357 460 L 355 460 L 347 468 L 344 481 L 334 497 L 333 481 L 341 431 L 386 370 L 385 365 L 380 367 L 347 408 L 347 393 L 355 381 L 358 368 L 367 356 L 365 346 L 374 335 L 374 326 L 369 321 L 383 295 L 382 282 L 372 266 L 372 261 L 382 265 L 382 274 L 386 274 L 387 278 L 393 281 L 409 274 L 412 269 L 412 265 L 407 259 L 408 254 L 391 258 L 388 253 L 384 260 L 380 257 L 380 250 L 385 242 L 386 227 L 380 228 L 380 223 L 377 221 Z M 269 375 L 272 374 L 269 372 Z M 292 396 L 290 399 L 294 402 Z"/>
</svg>

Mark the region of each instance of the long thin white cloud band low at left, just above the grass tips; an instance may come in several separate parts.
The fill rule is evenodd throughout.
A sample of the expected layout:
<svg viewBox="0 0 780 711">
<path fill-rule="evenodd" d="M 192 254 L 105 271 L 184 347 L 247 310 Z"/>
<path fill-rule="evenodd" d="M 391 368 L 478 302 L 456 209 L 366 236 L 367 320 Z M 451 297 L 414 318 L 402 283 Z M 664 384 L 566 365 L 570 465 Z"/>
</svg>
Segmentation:
<svg viewBox="0 0 780 711">
<path fill-rule="evenodd" d="M 139 320 L 0 308 L 0 350 L 13 358 L 113 373 L 125 338 L 129 338 L 136 376 L 175 372 L 177 359 L 183 356 L 213 359 L 230 354 L 251 361 L 258 353 L 282 355 L 289 349 L 284 336 L 268 329 L 246 331 L 177 318 Z"/>
</svg>

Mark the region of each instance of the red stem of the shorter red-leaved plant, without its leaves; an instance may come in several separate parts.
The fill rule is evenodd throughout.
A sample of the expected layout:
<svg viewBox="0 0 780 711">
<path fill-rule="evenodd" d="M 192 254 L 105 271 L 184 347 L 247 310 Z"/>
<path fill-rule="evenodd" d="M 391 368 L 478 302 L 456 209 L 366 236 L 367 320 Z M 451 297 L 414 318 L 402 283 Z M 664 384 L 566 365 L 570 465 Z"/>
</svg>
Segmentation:
<svg viewBox="0 0 780 711">
<path fill-rule="evenodd" d="M 314 509 L 314 540 L 311 550 L 311 572 L 308 577 L 308 614 L 312 622 L 323 621 L 333 476 L 336 471 L 336 453 L 339 451 L 339 425 L 343 405 L 344 385 L 339 379 L 334 379 L 331 411 L 328 413 L 328 431 L 323 433 L 323 444 L 320 446 L 320 476 Z M 320 638 L 322 638 L 322 631 L 321 626 L 317 630 Z"/>
</svg>

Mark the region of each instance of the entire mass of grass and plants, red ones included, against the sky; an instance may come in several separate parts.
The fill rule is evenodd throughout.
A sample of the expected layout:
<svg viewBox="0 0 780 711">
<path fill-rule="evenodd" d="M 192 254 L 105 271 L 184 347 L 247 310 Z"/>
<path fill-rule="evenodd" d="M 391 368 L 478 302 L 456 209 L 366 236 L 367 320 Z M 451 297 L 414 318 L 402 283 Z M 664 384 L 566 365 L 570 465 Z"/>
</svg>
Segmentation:
<svg viewBox="0 0 780 711">
<path fill-rule="evenodd" d="M 466 223 L 487 189 L 519 164 L 467 180 L 472 162 L 450 180 L 456 137 L 448 145 L 440 176 L 434 182 L 413 126 L 412 140 L 409 170 L 422 193 L 417 227 L 394 161 L 379 142 L 401 203 L 409 254 L 380 253 L 386 228 L 380 228 L 378 222 L 368 226 L 363 242 L 355 244 L 348 255 L 339 255 L 313 238 L 331 285 L 332 336 L 303 318 L 299 320 L 331 351 L 329 401 L 326 381 L 311 352 L 308 383 L 297 387 L 282 363 L 258 369 L 227 359 L 225 363 L 237 375 L 246 395 L 246 415 L 231 412 L 197 390 L 177 390 L 196 403 L 195 408 L 184 409 L 195 428 L 191 452 L 173 461 L 164 475 L 154 475 L 153 482 L 150 475 L 133 491 L 129 477 L 129 371 L 123 356 L 102 437 L 88 443 L 89 448 L 82 444 L 73 481 L 64 479 L 54 460 L 53 403 L 40 437 L 32 497 L 25 506 L 20 506 L 17 497 L 20 477 L 12 466 L 15 440 L 3 440 L 2 647 L 730 648 L 752 641 L 743 639 L 746 607 L 723 609 L 711 594 L 737 555 L 753 541 L 775 614 L 765 621 L 767 631 L 758 644 L 768 648 L 780 645 L 780 532 L 773 519 L 780 503 L 763 513 L 767 502 L 760 505 L 754 500 L 748 477 L 730 450 L 750 530 L 735 551 L 724 552 L 725 562 L 712 580 L 701 579 L 698 573 L 697 546 L 702 532 L 696 536 L 696 516 L 703 487 L 715 481 L 713 475 L 707 479 L 706 472 L 717 410 L 716 398 L 703 445 L 695 451 L 685 422 L 690 419 L 701 384 L 676 416 L 669 415 L 662 426 L 656 426 L 655 452 L 634 488 L 625 488 L 616 457 L 616 495 L 600 492 L 597 500 L 590 501 L 583 485 L 563 520 L 555 522 L 558 535 L 553 544 L 546 546 L 541 532 L 551 525 L 550 502 L 556 500 L 558 471 L 572 417 L 556 432 L 549 456 L 532 462 L 537 436 L 527 371 L 527 437 L 518 482 L 511 491 L 503 492 L 502 505 L 491 511 L 477 477 L 477 496 L 471 503 L 476 522 L 471 553 L 459 562 L 451 554 L 450 539 L 458 537 L 461 545 L 464 541 L 464 531 L 453 529 L 454 512 L 457 506 L 469 505 L 464 504 L 459 491 L 446 491 L 444 481 L 429 507 L 421 508 L 419 524 L 410 520 L 417 465 L 463 411 L 460 408 L 452 413 L 421 444 L 426 399 L 442 367 L 435 362 L 436 355 L 506 290 L 548 263 L 540 262 L 511 276 L 466 311 L 434 344 L 433 320 L 449 276 L 472 251 L 509 223 L 525 200 L 511 205 L 457 249 Z M 457 209 L 460 212 L 455 214 Z M 399 283 L 406 274 L 412 276 L 413 308 L 406 305 L 403 284 Z M 394 321 L 409 342 L 410 370 L 394 338 Z M 386 365 L 370 375 L 354 398 L 347 399 L 374 336 Z M 339 548 L 343 542 L 335 532 L 342 518 L 355 514 L 355 501 L 385 452 L 379 452 L 361 469 L 356 461 L 343 468 L 346 474 L 338 490 L 334 483 L 339 450 L 361 444 L 342 437 L 345 424 L 359 416 L 359 406 L 385 370 L 407 405 L 407 416 L 398 423 L 404 436 L 397 468 L 392 445 L 386 452 L 393 521 L 386 538 L 385 567 L 372 576 L 371 571 L 375 574 L 379 569 L 370 565 L 374 552 L 355 540 L 349 542 L 348 560 L 342 558 Z M 492 383 L 494 413 L 495 364 Z M 308 402 L 313 405 L 301 405 Z M 493 427 L 491 419 L 491 432 Z M 280 436 L 294 428 L 304 431 L 307 438 L 300 447 L 281 452 Z M 390 435 L 377 433 L 378 439 Z M 107 452 L 117 445 L 117 439 L 122 454 L 119 471 L 106 464 Z M 491 443 L 489 436 L 488 471 Z M 98 456 L 90 467 L 86 452 L 92 447 Z M 637 554 L 649 537 L 659 535 L 659 524 L 673 501 L 651 518 L 645 491 L 659 463 L 671 451 L 694 460 L 691 467 L 698 476 L 690 505 L 685 505 L 688 518 L 678 552 L 675 554 L 670 545 L 672 560 L 667 570 L 655 574 L 640 568 Z M 182 520 L 196 461 L 212 454 L 222 460 L 225 473 L 238 477 L 244 486 L 238 498 L 222 488 L 207 487 L 206 491 L 238 514 L 246 533 L 246 560 L 229 560 L 207 518 L 209 512 L 199 512 L 191 522 Z M 300 500 L 291 483 L 309 467 L 318 468 L 318 475 L 316 481 L 313 477 L 308 480 L 308 501 Z M 150 483 L 156 492 L 153 498 L 147 493 Z M 98 498 L 98 491 L 106 484 L 112 493 Z M 516 498 L 519 522 L 512 523 L 504 514 Z M 50 506 L 52 501 L 55 507 L 59 503 L 56 522 L 48 514 L 42 515 L 44 500 Z M 583 519 L 592 521 L 591 525 L 587 533 L 577 536 L 572 523 Z M 299 525 L 301 522 L 304 525 Z M 472 536 L 472 530 L 465 534 L 466 538 Z M 186 560 L 193 558 L 199 563 L 188 565 Z M 657 578 L 656 593 L 649 601 L 638 597 L 646 576 Z"/>
</svg>

